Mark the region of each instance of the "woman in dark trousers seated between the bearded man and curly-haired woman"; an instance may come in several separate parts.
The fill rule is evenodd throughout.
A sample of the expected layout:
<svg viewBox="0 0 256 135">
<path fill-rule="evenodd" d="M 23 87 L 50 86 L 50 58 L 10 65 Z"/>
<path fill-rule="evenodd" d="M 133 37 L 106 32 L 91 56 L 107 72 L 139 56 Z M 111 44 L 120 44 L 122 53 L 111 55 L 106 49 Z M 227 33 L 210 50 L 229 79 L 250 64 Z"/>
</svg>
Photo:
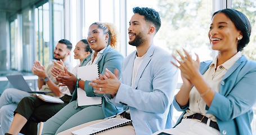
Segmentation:
<svg viewBox="0 0 256 135">
<path fill-rule="evenodd" d="M 74 59 L 79 59 L 80 63 L 92 52 L 91 48 L 86 39 L 80 40 L 75 46 L 74 50 Z M 55 62 L 55 61 L 54 61 Z M 64 64 L 62 61 L 57 61 L 59 64 L 55 62 L 55 66 L 64 69 Z M 72 71 L 77 74 L 77 69 L 80 66 L 76 66 Z M 53 70 L 53 69 L 52 69 Z M 52 74 L 53 75 L 53 74 Z M 55 77 L 55 75 L 53 75 Z M 59 84 L 59 86 L 63 86 L 63 84 Z M 69 88 L 69 87 L 68 87 Z M 73 91 L 70 90 L 70 93 Z M 67 98 L 68 97 L 68 98 Z M 69 101 L 70 96 L 60 97 L 62 101 Z M 9 133 L 17 134 L 23 129 L 23 133 L 36 134 L 36 132 L 30 132 L 30 128 L 24 127 L 27 122 L 46 122 L 46 120 L 50 119 L 53 115 L 55 115 L 58 111 L 62 109 L 67 104 L 56 104 L 54 102 L 45 102 L 37 97 L 24 97 L 17 106 L 17 109 L 14 111 L 14 120 L 12 121 L 11 127 L 9 129 Z"/>
</svg>

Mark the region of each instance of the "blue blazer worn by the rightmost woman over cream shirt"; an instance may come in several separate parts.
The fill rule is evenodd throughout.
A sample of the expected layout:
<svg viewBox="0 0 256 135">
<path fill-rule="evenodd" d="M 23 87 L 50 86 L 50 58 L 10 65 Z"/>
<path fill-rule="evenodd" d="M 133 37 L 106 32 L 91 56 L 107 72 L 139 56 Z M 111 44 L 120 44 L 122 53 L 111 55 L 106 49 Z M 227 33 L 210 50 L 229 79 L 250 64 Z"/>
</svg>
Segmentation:
<svg viewBox="0 0 256 135">
<path fill-rule="evenodd" d="M 200 72 L 204 74 L 212 61 L 201 62 Z M 174 107 L 178 111 L 188 109 L 188 104 L 180 107 L 174 97 Z M 250 123 L 253 120 L 252 107 L 256 102 L 256 62 L 242 56 L 227 71 L 221 80 L 219 93 L 215 92 L 207 114 L 213 114 L 222 134 L 252 134 Z M 185 114 L 185 112 L 183 112 Z M 178 123 L 181 122 L 182 116 Z M 176 124 L 176 125 L 177 125 Z"/>
</svg>

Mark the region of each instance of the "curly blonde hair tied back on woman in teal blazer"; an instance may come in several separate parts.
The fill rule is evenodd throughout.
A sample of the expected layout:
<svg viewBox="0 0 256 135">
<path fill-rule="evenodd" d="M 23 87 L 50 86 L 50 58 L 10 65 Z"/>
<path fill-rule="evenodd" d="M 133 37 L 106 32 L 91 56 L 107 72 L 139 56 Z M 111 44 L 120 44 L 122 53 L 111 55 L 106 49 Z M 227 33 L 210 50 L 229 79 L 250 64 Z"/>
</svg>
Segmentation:
<svg viewBox="0 0 256 135">
<path fill-rule="evenodd" d="M 98 28 L 102 29 L 104 31 L 104 34 L 109 34 L 108 43 L 112 48 L 116 48 L 118 44 L 119 33 L 115 25 L 109 22 L 94 22 L 93 24 L 98 25 Z"/>
</svg>

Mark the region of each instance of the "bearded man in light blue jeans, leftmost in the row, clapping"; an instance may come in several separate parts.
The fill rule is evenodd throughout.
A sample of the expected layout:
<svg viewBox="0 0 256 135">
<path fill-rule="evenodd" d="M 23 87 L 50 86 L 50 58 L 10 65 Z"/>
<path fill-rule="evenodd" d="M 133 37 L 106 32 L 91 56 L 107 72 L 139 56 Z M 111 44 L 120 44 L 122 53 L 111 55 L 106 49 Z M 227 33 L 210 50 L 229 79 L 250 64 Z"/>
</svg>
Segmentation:
<svg viewBox="0 0 256 135">
<path fill-rule="evenodd" d="M 71 66 L 67 61 L 67 57 L 70 55 L 72 44 L 69 40 L 61 39 L 53 51 L 55 60 L 62 60 L 67 68 L 70 70 Z M 38 76 L 38 88 L 39 91 L 51 91 L 46 95 L 53 97 L 61 97 L 65 104 L 61 104 L 62 107 L 68 104 L 71 100 L 71 95 L 67 87 L 59 87 L 55 78 L 51 74 L 51 68 L 55 64 L 48 65 L 47 69 L 39 61 L 35 61 L 32 71 L 34 75 Z M 14 110 L 19 102 L 24 98 L 30 96 L 30 93 L 21 91 L 15 88 L 6 89 L 0 97 L 0 135 L 8 132 L 14 119 Z M 43 113 L 43 112 L 41 112 Z M 28 123 L 26 126 L 32 126 L 29 128 L 29 132 L 37 133 L 37 123 Z M 29 133 L 25 133 L 29 134 Z"/>
</svg>

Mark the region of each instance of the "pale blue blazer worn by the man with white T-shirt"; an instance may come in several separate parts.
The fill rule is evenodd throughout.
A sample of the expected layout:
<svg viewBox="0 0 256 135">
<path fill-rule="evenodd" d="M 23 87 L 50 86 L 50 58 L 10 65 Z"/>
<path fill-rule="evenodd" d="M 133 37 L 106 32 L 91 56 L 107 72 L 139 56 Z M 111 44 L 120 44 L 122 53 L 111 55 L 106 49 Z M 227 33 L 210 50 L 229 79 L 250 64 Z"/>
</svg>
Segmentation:
<svg viewBox="0 0 256 135">
<path fill-rule="evenodd" d="M 129 106 L 136 134 L 152 134 L 172 127 L 170 107 L 177 86 L 178 69 L 165 50 L 151 44 L 138 69 L 132 88 L 132 71 L 136 51 L 127 56 L 122 65 L 118 93 L 109 99 L 116 106 Z"/>
</svg>

